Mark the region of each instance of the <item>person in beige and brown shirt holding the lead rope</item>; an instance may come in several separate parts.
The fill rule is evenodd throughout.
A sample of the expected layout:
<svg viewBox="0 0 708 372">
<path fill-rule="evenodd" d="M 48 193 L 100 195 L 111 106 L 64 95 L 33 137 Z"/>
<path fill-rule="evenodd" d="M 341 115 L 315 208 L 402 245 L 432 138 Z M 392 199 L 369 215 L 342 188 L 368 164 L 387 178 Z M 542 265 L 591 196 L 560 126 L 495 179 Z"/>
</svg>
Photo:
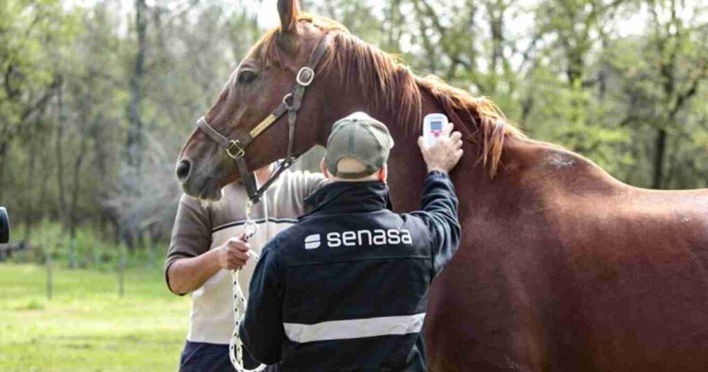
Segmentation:
<svg viewBox="0 0 708 372">
<path fill-rule="evenodd" d="M 270 177 L 274 167 L 271 164 L 256 171 L 259 184 Z M 260 254 L 271 237 L 309 212 L 304 198 L 325 183 L 319 173 L 283 172 L 261 202 L 253 205 L 251 218 L 258 224 L 258 232 L 249 239 L 251 249 Z M 254 260 L 247 261 L 245 244 L 237 239 L 244 232 L 247 199 L 243 184 L 224 187 L 224 197 L 216 203 L 181 197 L 165 261 L 169 290 L 178 295 L 192 294 L 180 371 L 234 371 L 229 361 L 229 339 L 234 329 L 230 270 L 243 266 L 239 284 L 248 293 L 256 266 Z M 247 353 L 244 364 L 247 368 L 257 365 Z M 275 366 L 268 370 L 275 371 Z"/>
</svg>

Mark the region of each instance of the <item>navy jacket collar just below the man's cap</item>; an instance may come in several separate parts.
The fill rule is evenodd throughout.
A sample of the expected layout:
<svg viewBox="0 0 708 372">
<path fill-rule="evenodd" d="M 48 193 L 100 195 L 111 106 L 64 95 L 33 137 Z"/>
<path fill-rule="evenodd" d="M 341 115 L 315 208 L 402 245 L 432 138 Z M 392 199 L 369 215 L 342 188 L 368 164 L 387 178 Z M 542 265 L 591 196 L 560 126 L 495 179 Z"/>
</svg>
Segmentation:
<svg viewBox="0 0 708 372">
<path fill-rule="evenodd" d="M 380 181 L 369 182 L 333 182 L 321 186 L 304 200 L 313 208 L 312 215 L 321 212 L 360 213 L 377 210 L 393 210 L 389 188 Z"/>
</svg>

